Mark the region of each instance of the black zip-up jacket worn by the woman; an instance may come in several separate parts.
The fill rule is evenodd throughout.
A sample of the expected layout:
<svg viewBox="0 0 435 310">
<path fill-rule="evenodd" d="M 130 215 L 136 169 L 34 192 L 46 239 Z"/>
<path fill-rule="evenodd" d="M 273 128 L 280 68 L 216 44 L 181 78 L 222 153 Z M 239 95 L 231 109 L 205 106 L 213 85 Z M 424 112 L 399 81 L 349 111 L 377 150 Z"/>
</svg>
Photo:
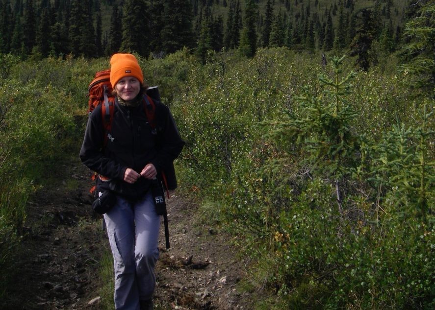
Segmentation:
<svg viewBox="0 0 435 310">
<path fill-rule="evenodd" d="M 137 199 L 150 187 L 143 177 L 136 183 L 124 181 L 127 168 L 140 173 L 149 163 L 157 175 L 165 172 L 168 189 L 177 187 L 173 161 L 179 156 L 184 141 L 167 106 L 154 100 L 156 128 L 148 122 L 144 105 L 127 107 L 115 100 L 112 128 L 104 146 L 104 127 L 101 105 L 91 113 L 80 149 L 81 161 L 91 170 L 110 178 L 109 188 L 126 198 Z"/>
</svg>

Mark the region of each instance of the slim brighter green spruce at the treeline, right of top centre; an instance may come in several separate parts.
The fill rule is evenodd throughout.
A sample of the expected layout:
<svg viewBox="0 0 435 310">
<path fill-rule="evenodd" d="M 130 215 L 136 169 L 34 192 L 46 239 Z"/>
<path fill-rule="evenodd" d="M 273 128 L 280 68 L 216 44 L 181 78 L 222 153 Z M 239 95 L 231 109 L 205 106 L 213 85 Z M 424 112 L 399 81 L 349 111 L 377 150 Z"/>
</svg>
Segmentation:
<svg viewBox="0 0 435 310">
<path fill-rule="evenodd" d="M 239 45 L 240 54 L 246 57 L 253 57 L 256 53 L 256 16 L 257 5 L 255 0 L 246 0 L 245 18 Z"/>
</svg>

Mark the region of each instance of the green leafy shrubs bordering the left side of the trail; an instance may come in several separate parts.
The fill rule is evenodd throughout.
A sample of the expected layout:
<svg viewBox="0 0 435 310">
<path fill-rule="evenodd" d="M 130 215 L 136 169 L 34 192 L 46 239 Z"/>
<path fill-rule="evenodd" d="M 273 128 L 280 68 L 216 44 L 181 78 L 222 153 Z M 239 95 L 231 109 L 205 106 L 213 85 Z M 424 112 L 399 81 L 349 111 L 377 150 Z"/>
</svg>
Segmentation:
<svg viewBox="0 0 435 310">
<path fill-rule="evenodd" d="M 17 249 L 29 195 L 55 173 L 68 152 L 78 153 L 77 90 L 83 88 L 69 82 L 73 60 L 49 58 L 11 66 L 0 88 L 1 107 L 7 107 L 0 122 L 0 266 L 6 270 L 0 294 L 7 285 L 11 249 Z"/>
</svg>

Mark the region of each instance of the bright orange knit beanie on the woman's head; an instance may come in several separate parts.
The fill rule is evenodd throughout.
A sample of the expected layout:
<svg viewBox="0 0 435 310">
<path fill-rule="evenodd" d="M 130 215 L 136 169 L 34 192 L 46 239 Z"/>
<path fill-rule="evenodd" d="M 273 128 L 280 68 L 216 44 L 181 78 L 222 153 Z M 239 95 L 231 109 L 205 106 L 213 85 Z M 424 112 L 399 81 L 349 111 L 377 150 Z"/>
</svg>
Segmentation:
<svg viewBox="0 0 435 310">
<path fill-rule="evenodd" d="M 134 76 L 141 84 L 144 83 L 144 75 L 134 55 L 114 54 L 110 58 L 110 84 L 112 87 L 115 88 L 116 83 L 125 76 Z"/>
</svg>

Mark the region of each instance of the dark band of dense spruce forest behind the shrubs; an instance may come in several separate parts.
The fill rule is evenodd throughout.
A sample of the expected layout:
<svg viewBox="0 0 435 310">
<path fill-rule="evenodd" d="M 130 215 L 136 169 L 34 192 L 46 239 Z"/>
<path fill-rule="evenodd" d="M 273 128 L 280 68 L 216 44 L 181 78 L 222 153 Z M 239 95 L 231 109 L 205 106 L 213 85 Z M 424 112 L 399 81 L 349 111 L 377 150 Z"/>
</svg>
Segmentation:
<svg viewBox="0 0 435 310">
<path fill-rule="evenodd" d="M 182 47 L 350 49 L 367 69 L 377 43 L 390 53 L 403 42 L 413 0 L 1 0 L 0 52 L 41 59 L 135 51 L 163 56 Z"/>
</svg>

